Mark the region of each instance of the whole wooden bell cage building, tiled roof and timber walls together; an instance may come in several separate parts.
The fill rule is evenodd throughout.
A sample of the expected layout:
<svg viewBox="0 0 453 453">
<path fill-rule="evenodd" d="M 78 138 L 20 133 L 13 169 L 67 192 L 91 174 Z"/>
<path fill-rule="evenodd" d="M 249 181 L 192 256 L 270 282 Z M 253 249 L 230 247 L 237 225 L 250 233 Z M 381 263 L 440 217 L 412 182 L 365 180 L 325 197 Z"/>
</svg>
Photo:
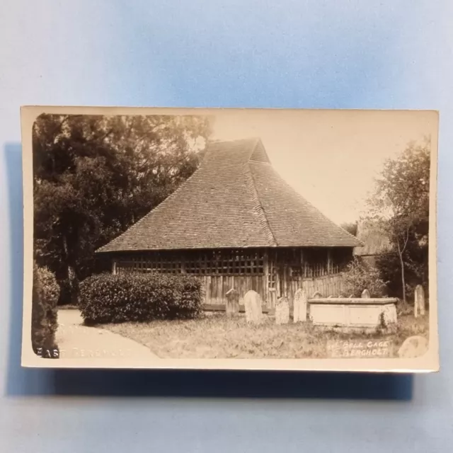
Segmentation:
<svg viewBox="0 0 453 453">
<path fill-rule="evenodd" d="M 193 176 L 97 253 L 113 273 L 195 275 L 205 304 L 253 289 L 273 308 L 299 287 L 340 294 L 357 246 L 285 183 L 260 139 L 243 139 L 210 143 Z"/>
</svg>

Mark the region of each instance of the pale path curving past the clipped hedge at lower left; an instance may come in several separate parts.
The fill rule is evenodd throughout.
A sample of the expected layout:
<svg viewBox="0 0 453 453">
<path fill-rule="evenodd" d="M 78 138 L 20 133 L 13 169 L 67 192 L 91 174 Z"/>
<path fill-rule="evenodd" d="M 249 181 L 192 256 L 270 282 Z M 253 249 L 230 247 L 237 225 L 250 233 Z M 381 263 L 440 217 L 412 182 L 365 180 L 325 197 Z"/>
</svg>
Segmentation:
<svg viewBox="0 0 453 453">
<path fill-rule="evenodd" d="M 83 324 L 79 310 L 58 311 L 57 345 L 62 358 L 140 357 L 159 359 L 146 346 L 116 333 Z"/>
</svg>

